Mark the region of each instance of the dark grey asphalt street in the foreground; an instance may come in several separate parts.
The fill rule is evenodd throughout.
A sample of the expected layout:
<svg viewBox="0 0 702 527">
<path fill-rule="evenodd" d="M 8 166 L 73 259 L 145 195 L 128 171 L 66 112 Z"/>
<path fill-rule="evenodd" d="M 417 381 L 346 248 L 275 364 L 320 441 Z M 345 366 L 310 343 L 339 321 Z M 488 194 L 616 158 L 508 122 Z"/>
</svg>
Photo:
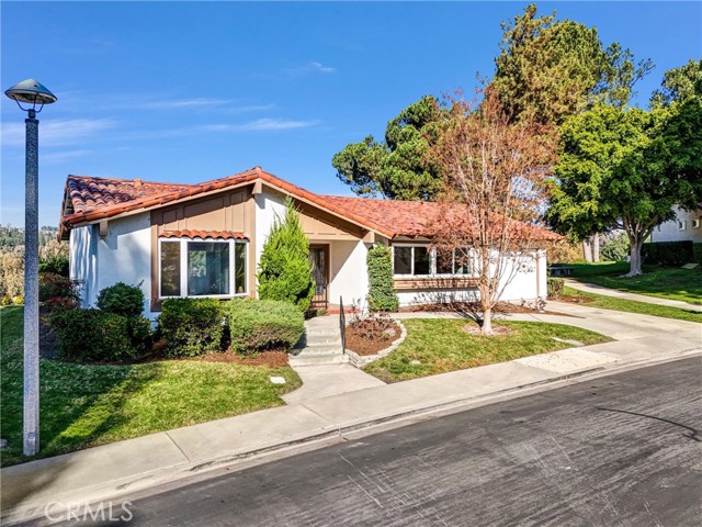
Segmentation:
<svg viewBox="0 0 702 527">
<path fill-rule="evenodd" d="M 693 358 L 430 418 L 131 498 L 129 524 L 700 526 L 701 380 Z"/>
</svg>

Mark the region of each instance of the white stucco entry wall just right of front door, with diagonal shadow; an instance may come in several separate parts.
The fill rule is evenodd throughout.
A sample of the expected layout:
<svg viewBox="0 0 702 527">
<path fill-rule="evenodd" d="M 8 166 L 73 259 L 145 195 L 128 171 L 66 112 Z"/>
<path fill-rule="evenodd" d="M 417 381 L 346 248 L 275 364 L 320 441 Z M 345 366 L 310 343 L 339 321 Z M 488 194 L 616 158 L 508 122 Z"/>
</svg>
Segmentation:
<svg viewBox="0 0 702 527">
<path fill-rule="evenodd" d="M 332 242 L 329 246 L 329 302 L 344 305 L 355 302 L 363 305 L 369 293 L 366 255 L 369 246 L 363 242 Z"/>
</svg>

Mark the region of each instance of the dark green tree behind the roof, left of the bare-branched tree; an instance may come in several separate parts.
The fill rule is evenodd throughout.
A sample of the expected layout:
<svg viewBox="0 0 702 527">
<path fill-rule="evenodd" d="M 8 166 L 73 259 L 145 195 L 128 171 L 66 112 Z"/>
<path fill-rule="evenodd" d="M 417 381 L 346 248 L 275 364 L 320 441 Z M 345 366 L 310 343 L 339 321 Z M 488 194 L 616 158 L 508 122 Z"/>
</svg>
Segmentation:
<svg viewBox="0 0 702 527">
<path fill-rule="evenodd" d="M 431 128 L 441 120 L 437 99 L 422 97 L 387 123 L 385 141 L 369 135 L 337 153 L 337 177 L 359 195 L 396 200 L 433 200 L 442 188 L 428 158 Z"/>
</svg>

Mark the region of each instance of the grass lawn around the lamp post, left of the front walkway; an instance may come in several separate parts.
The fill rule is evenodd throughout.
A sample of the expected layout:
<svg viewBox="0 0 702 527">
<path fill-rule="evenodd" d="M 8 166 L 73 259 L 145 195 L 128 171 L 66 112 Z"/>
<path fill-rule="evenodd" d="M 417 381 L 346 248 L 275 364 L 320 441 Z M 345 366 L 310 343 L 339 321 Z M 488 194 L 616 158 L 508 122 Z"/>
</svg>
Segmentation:
<svg viewBox="0 0 702 527">
<path fill-rule="evenodd" d="M 22 455 L 23 309 L 0 310 L 0 428 L 3 467 Z M 301 385 L 291 368 L 196 360 L 82 366 L 42 359 L 41 452 L 49 457 L 283 404 Z M 270 375 L 284 377 L 283 385 Z M 32 458 L 35 459 L 35 458 Z"/>
</svg>

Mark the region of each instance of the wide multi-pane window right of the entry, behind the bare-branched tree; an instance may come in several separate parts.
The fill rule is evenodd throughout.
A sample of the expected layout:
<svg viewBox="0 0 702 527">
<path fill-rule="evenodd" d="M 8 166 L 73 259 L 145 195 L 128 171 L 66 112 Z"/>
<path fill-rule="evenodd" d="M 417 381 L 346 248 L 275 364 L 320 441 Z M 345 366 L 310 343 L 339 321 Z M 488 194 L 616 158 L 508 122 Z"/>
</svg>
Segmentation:
<svg viewBox="0 0 702 527">
<path fill-rule="evenodd" d="M 395 276 L 469 276 L 472 258 L 467 247 L 438 251 L 421 245 L 393 246 Z"/>
</svg>

